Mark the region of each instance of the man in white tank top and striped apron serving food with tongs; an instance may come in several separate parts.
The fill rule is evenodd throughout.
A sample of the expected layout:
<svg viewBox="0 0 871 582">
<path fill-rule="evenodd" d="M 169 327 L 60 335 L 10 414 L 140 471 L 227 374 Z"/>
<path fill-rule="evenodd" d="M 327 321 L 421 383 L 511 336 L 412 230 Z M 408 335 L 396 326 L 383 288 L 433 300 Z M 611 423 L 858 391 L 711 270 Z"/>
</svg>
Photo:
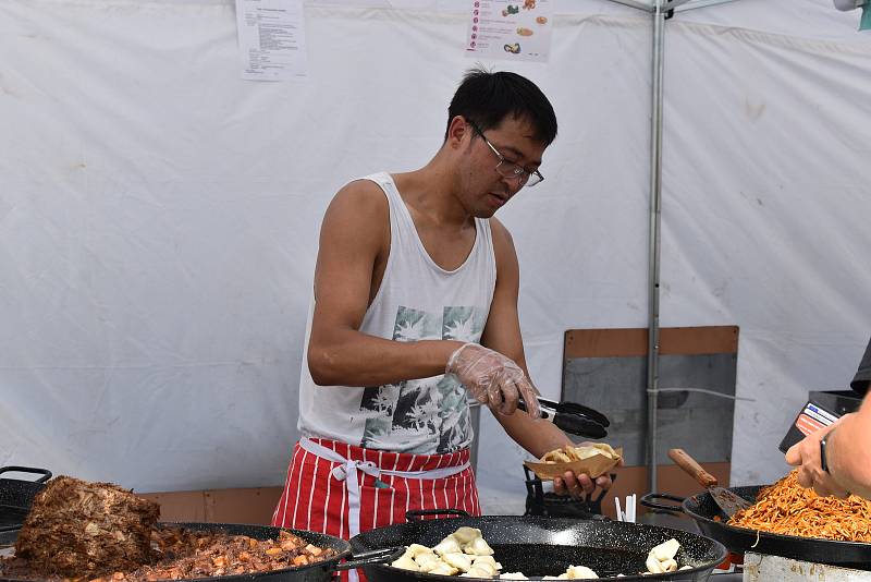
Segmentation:
<svg viewBox="0 0 871 582">
<path fill-rule="evenodd" d="M 323 217 L 299 431 L 273 524 L 349 537 L 408 509 L 480 514 L 467 395 L 536 457 L 571 444 L 538 420 L 517 315 L 519 269 L 493 215 L 543 180 L 556 136 L 529 80 L 469 71 L 425 167 L 342 187 Z M 517 409 L 523 397 L 527 411 Z M 584 498 L 601 476 L 567 472 Z"/>
</svg>

